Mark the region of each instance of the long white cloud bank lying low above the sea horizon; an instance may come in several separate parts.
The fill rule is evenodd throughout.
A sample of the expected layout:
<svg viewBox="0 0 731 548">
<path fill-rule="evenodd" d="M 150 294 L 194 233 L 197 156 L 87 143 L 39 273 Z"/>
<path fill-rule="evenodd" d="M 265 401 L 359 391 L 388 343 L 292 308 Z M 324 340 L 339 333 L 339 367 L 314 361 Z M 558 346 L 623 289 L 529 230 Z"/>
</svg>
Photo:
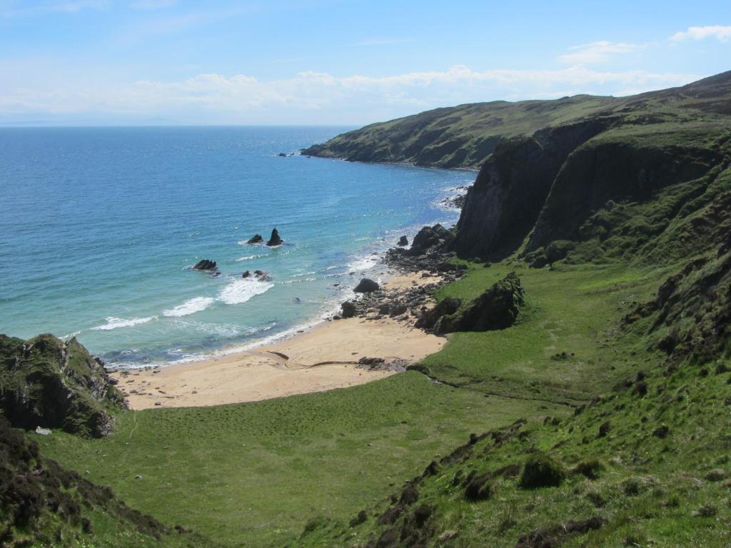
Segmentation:
<svg viewBox="0 0 731 548">
<path fill-rule="evenodd" d="M 211 73 L 173 82 L 53 85 L 52 91 L 29 85 L 5 90 L 0 84 L 0 121 L 93 114 L 107 121 L 162 117 L 172 123 L 361 123 L 466 102 L 649 91 L 697 78 L 645 71 L 600 72 L 581 66 L 481 72 L 456 65 L 444 71 L 387 77 L 300 72 L 281 80 L 260 80 Z"/>
</svg>

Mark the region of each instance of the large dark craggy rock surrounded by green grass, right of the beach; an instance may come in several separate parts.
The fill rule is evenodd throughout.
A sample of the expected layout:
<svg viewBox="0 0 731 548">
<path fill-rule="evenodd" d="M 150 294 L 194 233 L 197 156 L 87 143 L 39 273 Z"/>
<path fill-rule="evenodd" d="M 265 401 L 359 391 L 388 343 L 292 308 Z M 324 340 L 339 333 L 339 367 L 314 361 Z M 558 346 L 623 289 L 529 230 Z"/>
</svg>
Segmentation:
<svg viewBox="0 0 731 548">
<path fill-rule="evenodd" d="M 464 307 L 458 299 L 442 300 L 423 314 L 417 327 L 437 335 L 455 331 L 503 330 L 518 319 L 523 296 L 520 278 L 510 273 Z"/>
</svg>

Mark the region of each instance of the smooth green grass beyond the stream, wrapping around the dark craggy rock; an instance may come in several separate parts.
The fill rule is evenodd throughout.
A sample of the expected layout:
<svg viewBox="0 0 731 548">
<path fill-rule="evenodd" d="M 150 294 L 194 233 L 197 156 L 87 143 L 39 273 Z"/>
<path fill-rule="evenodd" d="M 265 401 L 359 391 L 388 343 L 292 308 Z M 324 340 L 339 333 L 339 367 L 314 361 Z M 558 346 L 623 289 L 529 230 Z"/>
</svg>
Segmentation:
<svg viewBox="0 0 731 548">
<path fill-rule="evenodd" d="M 502 331 L 454 333 L 424 365 L 442 381 L 482 392 L 577 403 L 635 367 L 632 356 L 616 348 L 618 317 L 633 302 L 647 300 L 672 269 L 501 263 L 472 267 L 438 297 L 473 299 L 510 270 L 526 289 L 518 323 Z"/>
</svg>

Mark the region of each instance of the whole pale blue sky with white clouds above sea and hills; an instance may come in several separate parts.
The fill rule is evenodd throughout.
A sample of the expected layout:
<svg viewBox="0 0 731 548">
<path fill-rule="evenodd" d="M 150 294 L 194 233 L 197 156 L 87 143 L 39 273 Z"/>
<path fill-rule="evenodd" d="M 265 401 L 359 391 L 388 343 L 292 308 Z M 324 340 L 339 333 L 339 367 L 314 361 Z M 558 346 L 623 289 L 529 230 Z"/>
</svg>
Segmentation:
<svg viewBox="0 0 731 548">
<path fill-rule="evenodd" d="M 4 126 L 360 126 L 730 69 L 730 0 L 0 0 Z"/>
</svg>

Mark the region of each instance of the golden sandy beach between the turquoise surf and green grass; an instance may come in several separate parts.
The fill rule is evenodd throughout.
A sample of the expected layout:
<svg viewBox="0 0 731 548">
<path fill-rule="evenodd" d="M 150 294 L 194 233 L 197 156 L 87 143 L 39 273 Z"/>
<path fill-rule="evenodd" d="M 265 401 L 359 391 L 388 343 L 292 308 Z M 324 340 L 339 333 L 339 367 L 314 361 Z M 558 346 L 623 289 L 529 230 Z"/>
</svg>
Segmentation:
<svg viewBox="0 0 731 548">
<path fill-rule="evenodd" d="M 393 275 L 385 292 L 433 283 L 421 273 Z M 266 400 L 375 381 L 393 370 L 358 367 L 363 357 L 415 362 L 444 346 L 445 338 L 413 327 L 413 319 L 349 318 L 326 321 L 306 332 L 251 351 L 113 373 L 129 407 L 216 406 Z"/>
</svg>

